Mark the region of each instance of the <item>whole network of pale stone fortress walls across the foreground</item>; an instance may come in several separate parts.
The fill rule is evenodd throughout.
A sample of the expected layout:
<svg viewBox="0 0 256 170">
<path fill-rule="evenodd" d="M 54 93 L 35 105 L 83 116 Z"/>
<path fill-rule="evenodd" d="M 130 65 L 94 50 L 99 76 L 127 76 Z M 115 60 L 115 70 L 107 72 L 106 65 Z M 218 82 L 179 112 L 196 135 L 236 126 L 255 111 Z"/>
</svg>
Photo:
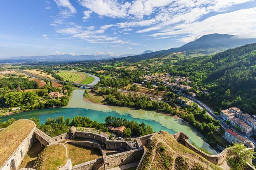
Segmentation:
<svg viewBox="0 0 256 170">
<path fill-rule="evenodd" d="M 72 128 L 72 127 L 71 127 Z M 161 131 L 160 131 L 161 133 Z M 69 133 L 64 133 L 59 136 L 55 136 L 54 138 L 50 138 L 48 135 L 40 131 L 39 129 L 33 128 L 33 130 L 29 133 L 28 137 L 24 139 L 24 141 L 19 145 L 19 147 L 16 149 L 16 151 L 10 156 L 10 158 L 5 162 L 5 165 L 10 165 L 11 161 L 15 161 L 16 167 L 14 169 L 18 169 L 19 165 L 21 164 L 24 156 L 28 152 L 29 148 L 35 141 L 39 141 L 42 146 L 47 145 L 54 145 L 56 143 L 59 143 L 61 141 L 64 141 L 66 139 L 72 139 L 75 137 L 84 138 L 85 141 L 67 141 L 67 143 L 70 143 L 72 145 L 80 145 L 80 146 L 86 146 L 90 148 L 96 148 L 99 149 L 103 155 L 102 158 L 92 160 L 89 162 L 81 163 L 79 165 L 75 165 L 73 167 L 70 167 L 69 169 L 72 170 L 107 170 L 108 168 L 113 168 L 121 165 L 127 165 L 130 163 L 139 162 L 144 157 L 147 150 L 144 149 L 147 148 L 147 145 L 150 143 L 150 139 L 153 138 L 153 136 L 156 133 L 141 136 L 136 138 L 135 142 L 129 143 L 127 141 L 110 141 L 107 139 L 106 136 L 102 136 L 100 134 L 95 133 L 88 133 L 88 132 L 79 132 L 76 131 L 76 128 L 73 127 L 73 130 L 69 131 Z M 214 164 L 220 164 L 222 163 L 228 153 L 228 149 L 223 150 L 218 155 L 208 155 L 204 153 L 203 151 L 199 150 L 195 146 L 193 146 L 189 142 L 189 137 L 182 132 L 170 135 L 176 141 L 182 143 L 187 148 L 195 151 L 202 157 L 209 160 L 209 162 L 212 162 Z M 106 156 L 105 150 L 113 151 L 113 155 Z M 127 151 L 120 152 L 120 148 Z M 20 150 L 22 149 L 23 155 L 21 156 Z M 72 160 L 67 160 L 67 164 L 71 164 Z M 136 165 L 135 165 L 136 166 Z M 10 170 L 10 167 L 7 166 L 5 168 L 4 166 L 3 170 Z M 66 170 L 66 165 L 61 168 L 62 170 Z"/>
</svg>

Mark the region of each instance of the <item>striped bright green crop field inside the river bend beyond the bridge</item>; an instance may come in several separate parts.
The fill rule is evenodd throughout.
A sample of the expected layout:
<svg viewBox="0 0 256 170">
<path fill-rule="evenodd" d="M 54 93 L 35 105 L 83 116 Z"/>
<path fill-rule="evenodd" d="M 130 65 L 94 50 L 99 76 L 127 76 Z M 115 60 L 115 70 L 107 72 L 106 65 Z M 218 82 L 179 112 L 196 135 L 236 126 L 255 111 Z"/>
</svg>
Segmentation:
<svg viewBox="0 0 256 170">
<path fill-rule="evenodd" d="M 89 84 L 92 83 L 94 78 L 92 76 L 88 76 L 83 72 L 75 72 L 75 71 L 60 71 L 57 75 L 61 76 L 64 81 L 81 83 L 81 84 Z"/>
</svg>

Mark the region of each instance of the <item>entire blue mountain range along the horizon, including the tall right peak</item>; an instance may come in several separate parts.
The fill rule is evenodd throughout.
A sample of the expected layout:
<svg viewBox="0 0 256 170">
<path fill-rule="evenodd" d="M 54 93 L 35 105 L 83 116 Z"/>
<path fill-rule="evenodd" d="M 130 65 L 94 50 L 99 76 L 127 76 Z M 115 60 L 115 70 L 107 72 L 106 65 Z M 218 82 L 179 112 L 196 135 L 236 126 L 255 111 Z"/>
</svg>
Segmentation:
<svg viewBox="0 0 256 170">
<path fill-rule="evenodd" d="M 196 39 L 195 41 L 189 42 L 178 48 L 170 48 L 168 50 L 161 51 L 150 51 L 146 50 L 141 54 L 123 54 L 120 56 L 111 56 L 108 54 L 104 55 L 79 55 L 71 56 L 69 54 L 64 55 L 48 55 L 48 56 L 21 56 L 1 59 L 0 63 L 17 63 L 17 62 L 49 62 L 49 61 L 92 61 L 92 60 L 107 60 L 112 61 L 128 61 L 137 62 L 142 59 L 160 57 L 163 54 L 175 53 L 175 52 L 196 52 L 202 54 L 213 54 L 224 51 L 226 49 L 243 46 L 256 42 L 256 39 L 241 39 L 237 36 L 228 34 L 209 34 Z"/>
</svg>

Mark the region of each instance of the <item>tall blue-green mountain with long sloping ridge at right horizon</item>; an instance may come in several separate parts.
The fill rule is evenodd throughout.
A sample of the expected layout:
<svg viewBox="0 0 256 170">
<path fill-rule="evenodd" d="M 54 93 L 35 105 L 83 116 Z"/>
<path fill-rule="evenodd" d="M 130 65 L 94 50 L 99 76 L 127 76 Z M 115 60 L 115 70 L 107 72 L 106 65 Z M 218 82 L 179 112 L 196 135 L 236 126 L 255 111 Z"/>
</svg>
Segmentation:
<svg viewBox="0 0 256 170">
<path fill-rule="evenodd" d="M 212 54 L 254 42 L 256 42 L 255 38 L 241 39 L 237 36 L 228 34 L 209 34 L 204 35 L 199 39 L 196 39 L 195 41 L 189 42 L 178 48 L 170 48 L 168 50 L 155 51 L 152 53 L 145 53 L 136 56 L 128 56 L 121 59 L 113 59 L 113 61 L 137 62 L 142 59 L 161 57 L 163 54 L 167 53 L 184 51 L 199 51 L 203 54 Z"/>
</svg>

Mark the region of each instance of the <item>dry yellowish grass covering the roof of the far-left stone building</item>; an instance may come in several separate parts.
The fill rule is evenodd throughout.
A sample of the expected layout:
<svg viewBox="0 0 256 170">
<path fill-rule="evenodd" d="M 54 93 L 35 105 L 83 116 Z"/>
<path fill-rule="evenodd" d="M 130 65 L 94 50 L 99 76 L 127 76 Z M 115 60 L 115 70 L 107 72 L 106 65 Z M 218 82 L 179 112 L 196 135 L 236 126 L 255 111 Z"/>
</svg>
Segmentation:
<svg viewBox="0 0 256 170">
<path fill-rule="evenodd" d="M 29 120 L 18 120 L 0 132 L 0 167 L 34 127 L 35 124 Z"/>
</svg>

